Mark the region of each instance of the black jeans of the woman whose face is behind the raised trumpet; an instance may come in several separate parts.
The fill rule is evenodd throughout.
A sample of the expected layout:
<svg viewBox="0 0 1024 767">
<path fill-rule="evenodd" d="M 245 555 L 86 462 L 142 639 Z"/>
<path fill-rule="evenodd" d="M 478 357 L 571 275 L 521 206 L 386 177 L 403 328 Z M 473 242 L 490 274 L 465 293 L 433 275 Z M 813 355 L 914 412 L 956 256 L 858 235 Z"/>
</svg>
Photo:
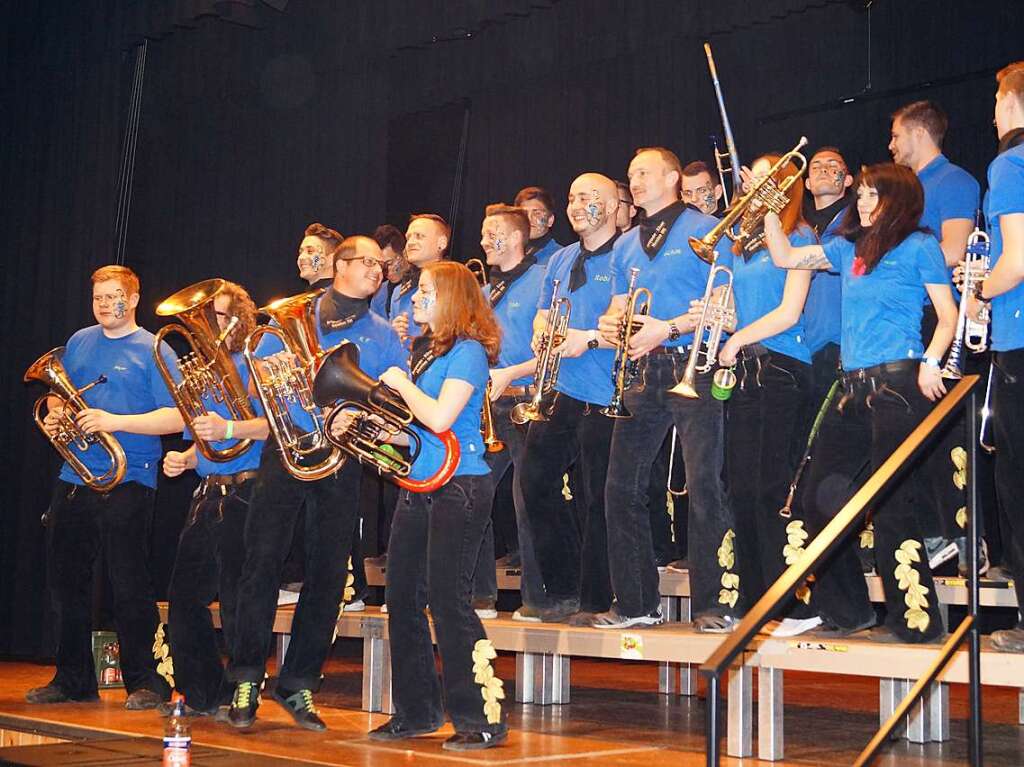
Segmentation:
<svg viewBox="0 0 1024 767">
<path fill-rule="evenodd" d="M 726 408 L 726 485 L 735 516 L 739 601 L 749 609 L 787 566 L 786 528 L 800 521 L 778 512 L 807 440 L 802 416 L 811 367 L 776 352 L 744 353 L 736 377 Z"/>
</svg>

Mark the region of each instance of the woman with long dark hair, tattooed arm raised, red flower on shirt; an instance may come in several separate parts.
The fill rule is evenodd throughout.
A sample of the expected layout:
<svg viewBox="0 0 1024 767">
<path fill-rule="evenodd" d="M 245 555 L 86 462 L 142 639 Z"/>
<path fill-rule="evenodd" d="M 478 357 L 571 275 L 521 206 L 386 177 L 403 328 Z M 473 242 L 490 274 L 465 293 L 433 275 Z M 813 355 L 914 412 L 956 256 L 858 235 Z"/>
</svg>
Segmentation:
<svg viewBox="0 0 1024 767">
<path fill-rule="evenodd" d="M 833 269 L 843 281 L 841 395 L 825 416 L 802 498 L 808 522 L 815 527 L 811 536 L 945 391 L 939 359 L 956 326 L 942 251 L 935 238 L 920 228 L 924 191 L 916 176 L 901 166 L 872 165 L 861 171 L 854 186 L 856 207 L 847 211 L 840 236 L 823 246 L 794 247 L 777 216 L 769 214 L 765 220 L 776 265 Z M 921 338 L 926 296 L 939 317 L 927 347 Z M 872 507 L 874 555 L 889 630 L 872 638 L 931 642 L 941 638 L 945 627 L 914 514 L 927 488 L 921 472 L 905 468 L 898 483 Z M 799 550 L 804 540 L 791 545 Z M 822 621 L 840 633 L 874 622 L 852 547 L 842 547 L 817 573 L 812 594 Z"/>
</svg>

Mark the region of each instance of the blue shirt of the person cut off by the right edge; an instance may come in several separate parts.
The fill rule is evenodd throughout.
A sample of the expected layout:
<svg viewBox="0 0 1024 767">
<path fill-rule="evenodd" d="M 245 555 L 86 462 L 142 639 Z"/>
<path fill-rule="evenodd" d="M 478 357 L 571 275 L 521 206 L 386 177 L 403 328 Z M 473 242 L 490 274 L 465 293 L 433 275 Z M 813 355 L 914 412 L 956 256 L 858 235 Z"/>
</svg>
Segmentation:
<svg viewBox="0 0 1024 767">
<path fill-rule="evenodd" d="M 988 221 L 991 265 L 1002 255 L 999 216 L 1024 213 L 1024 144 L 1007 150 L 988 166 L 985 219 Z M 1024 348 L 1024 283 L 992 299 L 992 349 Z"/>
</svg>

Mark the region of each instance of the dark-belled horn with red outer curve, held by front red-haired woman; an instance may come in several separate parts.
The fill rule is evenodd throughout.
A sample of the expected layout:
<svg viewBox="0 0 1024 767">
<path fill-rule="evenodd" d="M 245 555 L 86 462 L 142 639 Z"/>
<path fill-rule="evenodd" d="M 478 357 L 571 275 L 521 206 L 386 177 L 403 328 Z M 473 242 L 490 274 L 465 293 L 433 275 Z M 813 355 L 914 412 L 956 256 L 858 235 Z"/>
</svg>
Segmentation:
<svg viewBox="0 0 1024 767">
<path fill-rule="evenodd" d="M 397 392 L 359 369 L 359 347 L 354 343 L 342 343 L 328 352 L 313 378 L 312 395 L 317 404 L 331 408 L 324 419 L 327 440 L 336 450 L 377 469 L 399 487 L 413 493 L 432 493 L 445 484 L 459 467 L 459 440 L 449 429 L 436 434 L 444 446 L 444 460 L 433 476 L 409 478 L 423 445 L 420 435 L 410 428 L 413 413 Z M 335 436 L 334 420 L 344 412 L 354 412 L 354 418 L 340 436 Z M 412 454 L 409 459 L 381 439 L 382 435 L 399 433 L 409 438 Z"/>
</svg>

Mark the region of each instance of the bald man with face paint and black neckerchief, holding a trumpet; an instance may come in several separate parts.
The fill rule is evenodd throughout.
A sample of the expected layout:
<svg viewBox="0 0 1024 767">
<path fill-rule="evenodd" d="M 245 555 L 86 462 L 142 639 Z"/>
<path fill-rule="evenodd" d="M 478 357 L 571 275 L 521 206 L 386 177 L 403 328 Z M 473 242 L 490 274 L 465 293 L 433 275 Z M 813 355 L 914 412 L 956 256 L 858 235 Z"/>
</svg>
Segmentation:
<svg viewBox="0 0 1024 767">
<path fill-rule="evenodd" d="M 604 478 L 612 421 L 600 411 L 611 400 L 614 351 L 598 334 L 597 318 L 611 300 L 617 209 L 618 190 L 610 178 L 584 173 L 572 182 L 566 213 L 580 242 L 560 249 L 548 262 L 534 319 L 537 348 L 552 298 L 571 302 L 558 380 L 545 401 L 545 413 L 550 409 L 551 415 L 547 421 L 530 423 L 520 476 L 534 549 L 550 600 L 550 606 L 540 611 L 542 621 L 564 621 L 581 611 L 603 612 L 611 604 Z M 561 477 L 572 464 L 577 464 L 579 486 L 573 489 L 584 526 L 579 569 L 566 556 L 577 547 L 577 531 L 562 500 Z M 577 620 L 589 623 L 586 614 Z"/>
</svg>

